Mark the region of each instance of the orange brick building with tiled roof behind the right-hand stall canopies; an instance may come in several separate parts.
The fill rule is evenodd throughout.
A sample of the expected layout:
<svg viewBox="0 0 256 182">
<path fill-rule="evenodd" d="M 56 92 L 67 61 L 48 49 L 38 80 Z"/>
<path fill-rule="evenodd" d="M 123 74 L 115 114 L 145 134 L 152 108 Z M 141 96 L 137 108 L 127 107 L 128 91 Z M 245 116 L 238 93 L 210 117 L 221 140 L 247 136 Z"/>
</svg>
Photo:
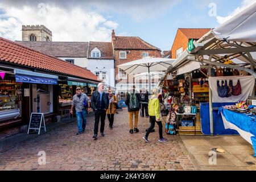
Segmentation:
<svg viewBox="0 0 256 182">
<path fill-rule="evenodd" d="M 198 40 L 209 31 L 210 28 L 178 28 L 174 43 L 172 44 L 171 52 L 169 52 L 171 57 L 168 58 L 177 59 L 177 57 L 179 57 L 181 53 L 188 48 L 189 40 Z"/>
</svg>

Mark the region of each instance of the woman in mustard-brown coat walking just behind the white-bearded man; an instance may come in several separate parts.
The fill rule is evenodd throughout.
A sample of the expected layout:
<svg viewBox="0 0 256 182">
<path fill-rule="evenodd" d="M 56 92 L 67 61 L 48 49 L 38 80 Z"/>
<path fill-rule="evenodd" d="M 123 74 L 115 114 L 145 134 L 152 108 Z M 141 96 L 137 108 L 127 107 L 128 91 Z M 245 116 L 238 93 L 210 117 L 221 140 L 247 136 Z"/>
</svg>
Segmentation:
<svg viewBox="0 0 256 182">
<path fill-rule="evenodd" d="M 109 119 L 109 128 L 113 130 L 114 114 L 117 113 L 117 96 L 115 96 L 111 89 L 109 89 L 109 109 L 106 111 Z"/>
</svg>

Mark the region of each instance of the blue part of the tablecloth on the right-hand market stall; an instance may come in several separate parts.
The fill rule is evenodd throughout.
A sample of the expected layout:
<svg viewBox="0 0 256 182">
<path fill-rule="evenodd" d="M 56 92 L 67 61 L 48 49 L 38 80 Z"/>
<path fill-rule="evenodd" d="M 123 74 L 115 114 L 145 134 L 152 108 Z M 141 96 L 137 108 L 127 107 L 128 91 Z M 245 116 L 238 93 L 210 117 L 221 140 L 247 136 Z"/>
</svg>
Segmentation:
<svg viewBox="0 0 256 182">
<path fill-rule="evenodd" d="M 255 136 L 251 137 L 251 142 L 253 143 L 254 151 L 256 151 L 256 116 L 251 114 L 236 113 L 228 109 L 223 109 L 222 107 L 220 107 L 219 111 L 224 115 L 228 122 Z"/>
</svg>

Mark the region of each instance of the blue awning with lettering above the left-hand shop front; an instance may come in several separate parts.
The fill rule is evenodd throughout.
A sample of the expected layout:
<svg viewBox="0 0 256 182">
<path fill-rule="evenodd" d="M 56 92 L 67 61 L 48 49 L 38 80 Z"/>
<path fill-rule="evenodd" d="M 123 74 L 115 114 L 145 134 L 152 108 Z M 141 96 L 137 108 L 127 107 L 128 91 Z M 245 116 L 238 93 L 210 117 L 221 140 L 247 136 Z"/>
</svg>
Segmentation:
<svg viewBox="0 0 256 182">
<path fill-rule="evenodd" d="M 26 82 L 31 84 L 57 85 L 57 79 L 55 78 L 45 78 L 45 77 L 15 74 L 15 80 L 16 82 Z"/>
</svg>

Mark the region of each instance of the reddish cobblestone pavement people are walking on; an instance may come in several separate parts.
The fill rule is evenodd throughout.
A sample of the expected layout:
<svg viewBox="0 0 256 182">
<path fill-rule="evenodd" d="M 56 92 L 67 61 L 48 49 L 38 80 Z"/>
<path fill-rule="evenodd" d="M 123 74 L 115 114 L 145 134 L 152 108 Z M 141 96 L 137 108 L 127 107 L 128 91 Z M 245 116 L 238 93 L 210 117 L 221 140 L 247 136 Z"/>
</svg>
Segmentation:
<svg viewBox="0 0 256 182">
<path fill-rule="evenodd" d="M 158 132 L 145 143 L 148 118 L 139 118 L 139 133 L 129 133 L 127 110 L 115 114 L 114 129 L 93 140 L 93 117 L 85 133 L 76 135 L 76 122 L 59 127 L 0 154 L 0 170 L 195 170 L 179 136 L 158 142 Z M 155 127 L 158 131 L 158 126 Z M 46 165 L 39 165 L 38 152 L 46 152 Z"/>
</svg>

